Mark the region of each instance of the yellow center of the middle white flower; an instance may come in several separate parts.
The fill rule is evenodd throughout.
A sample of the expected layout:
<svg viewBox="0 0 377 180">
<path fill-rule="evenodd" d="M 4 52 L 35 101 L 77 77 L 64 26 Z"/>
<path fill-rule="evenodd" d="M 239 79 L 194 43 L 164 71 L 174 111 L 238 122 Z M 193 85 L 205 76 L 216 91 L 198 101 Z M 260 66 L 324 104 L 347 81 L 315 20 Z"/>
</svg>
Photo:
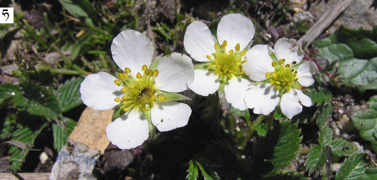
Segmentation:
<svg viewBox="0 0 377 180">
<path fill-rule="evenodd" d="M 246 62 L 245 60 L 242 61 L 242 56 L 246 54 L 246 51 L 239 52 L 239 43 L 234 47 L 234 50 L 231 49 L 228 52 L 225 49 L 226 46 L 227 41 L 224 41 L 220 47 L 215 44 L 216 52 L 213 57 L 207 55 L 207 58 L 211 61 L 208 66 L 219 75 L 220 80 L 225 80 L 225 82 L 233 75 L 244 74 L 242 64 Z"/>
</svg>

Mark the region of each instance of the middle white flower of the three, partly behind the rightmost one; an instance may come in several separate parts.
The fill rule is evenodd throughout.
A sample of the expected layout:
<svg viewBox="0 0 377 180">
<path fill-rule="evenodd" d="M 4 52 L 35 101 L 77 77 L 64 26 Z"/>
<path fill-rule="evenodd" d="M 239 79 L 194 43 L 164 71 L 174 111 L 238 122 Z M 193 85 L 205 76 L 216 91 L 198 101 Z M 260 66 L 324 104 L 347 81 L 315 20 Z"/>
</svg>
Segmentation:
<svg viewBox="0 0 377 180">
<path fill-rule="evenodd" d="M 254 33 L 253 22 L 241 14 L 227 14 L 221 18 L 217 41 L 207 25 L 200 21 L 191 23 L 183 41 L 185 49 L 193 59 L 205 63 L 195 67 L 195 78 L 189 88 L 204 96 L 218 90 L 225 92 L 226 100 L 234 108 L 247 109 L 244 97 L 250 81 L 241 77 L 244 74 L 242 64 L 245 62 L 244 49 Z"/>
</svg>

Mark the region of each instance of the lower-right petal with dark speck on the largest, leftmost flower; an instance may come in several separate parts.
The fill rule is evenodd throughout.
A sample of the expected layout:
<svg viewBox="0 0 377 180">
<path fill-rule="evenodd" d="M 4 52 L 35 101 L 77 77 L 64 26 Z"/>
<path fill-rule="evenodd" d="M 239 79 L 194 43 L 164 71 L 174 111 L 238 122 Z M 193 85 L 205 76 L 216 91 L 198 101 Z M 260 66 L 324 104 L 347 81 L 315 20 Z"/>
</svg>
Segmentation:
<svg viewBox="0 0 377 180">
<path fill-rule="evenodd" d="M 158 131 L 170 131 L 187 125 L 191 115 L 189 105 L 178 102 L 160 102 L 152 107 L 151 120 Z"/>
</svg>

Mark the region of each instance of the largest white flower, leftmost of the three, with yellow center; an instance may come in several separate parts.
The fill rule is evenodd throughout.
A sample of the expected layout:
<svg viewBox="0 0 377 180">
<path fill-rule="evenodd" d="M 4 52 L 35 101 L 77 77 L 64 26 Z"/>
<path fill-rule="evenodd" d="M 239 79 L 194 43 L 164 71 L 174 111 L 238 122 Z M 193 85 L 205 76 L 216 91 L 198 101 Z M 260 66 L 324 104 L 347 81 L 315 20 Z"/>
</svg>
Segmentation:
<svg viewBox="0 0 377 180">
<path fill-rule="evenodd" d="M 151 126 L 169 131 L 187 124 L 190 107 L 172 101 L 178 95 L 174 92 L 188 89 L 194 78 L 193 64 L 187 55 L 172 53 L 158 59 L 156 66 L 152 63 L 152 42 L 133 30 L 118 34 L 111 52 L 124 72 L 118 78 L 106 72 L 90 74 L 81 83 L 80 93 L 90 108 L 121 108 L 120 114 L 124 114 L 106 127 L 107 138 L 114 145 L 135 148 L 148 139 Z"/>
</svg>

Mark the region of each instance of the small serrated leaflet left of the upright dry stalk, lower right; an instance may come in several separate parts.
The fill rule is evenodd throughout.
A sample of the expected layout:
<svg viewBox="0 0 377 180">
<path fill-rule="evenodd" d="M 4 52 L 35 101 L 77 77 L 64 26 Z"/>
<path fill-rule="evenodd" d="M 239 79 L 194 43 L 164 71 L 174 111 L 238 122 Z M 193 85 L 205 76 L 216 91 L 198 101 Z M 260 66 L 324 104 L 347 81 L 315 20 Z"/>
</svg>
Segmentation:
<svg viewBox="0 0 377 180">
<path fill-rule="evenodd" d="M 308 158 L 305 161 L 306 169 L 308 169 L 309 174 L 313 173 L 314 171 L 319 171 L 325 166 L 326 154 L 324 149 L 320 146 L 314 146 L 310 149 L 308 154 Z"/>
</svg>

